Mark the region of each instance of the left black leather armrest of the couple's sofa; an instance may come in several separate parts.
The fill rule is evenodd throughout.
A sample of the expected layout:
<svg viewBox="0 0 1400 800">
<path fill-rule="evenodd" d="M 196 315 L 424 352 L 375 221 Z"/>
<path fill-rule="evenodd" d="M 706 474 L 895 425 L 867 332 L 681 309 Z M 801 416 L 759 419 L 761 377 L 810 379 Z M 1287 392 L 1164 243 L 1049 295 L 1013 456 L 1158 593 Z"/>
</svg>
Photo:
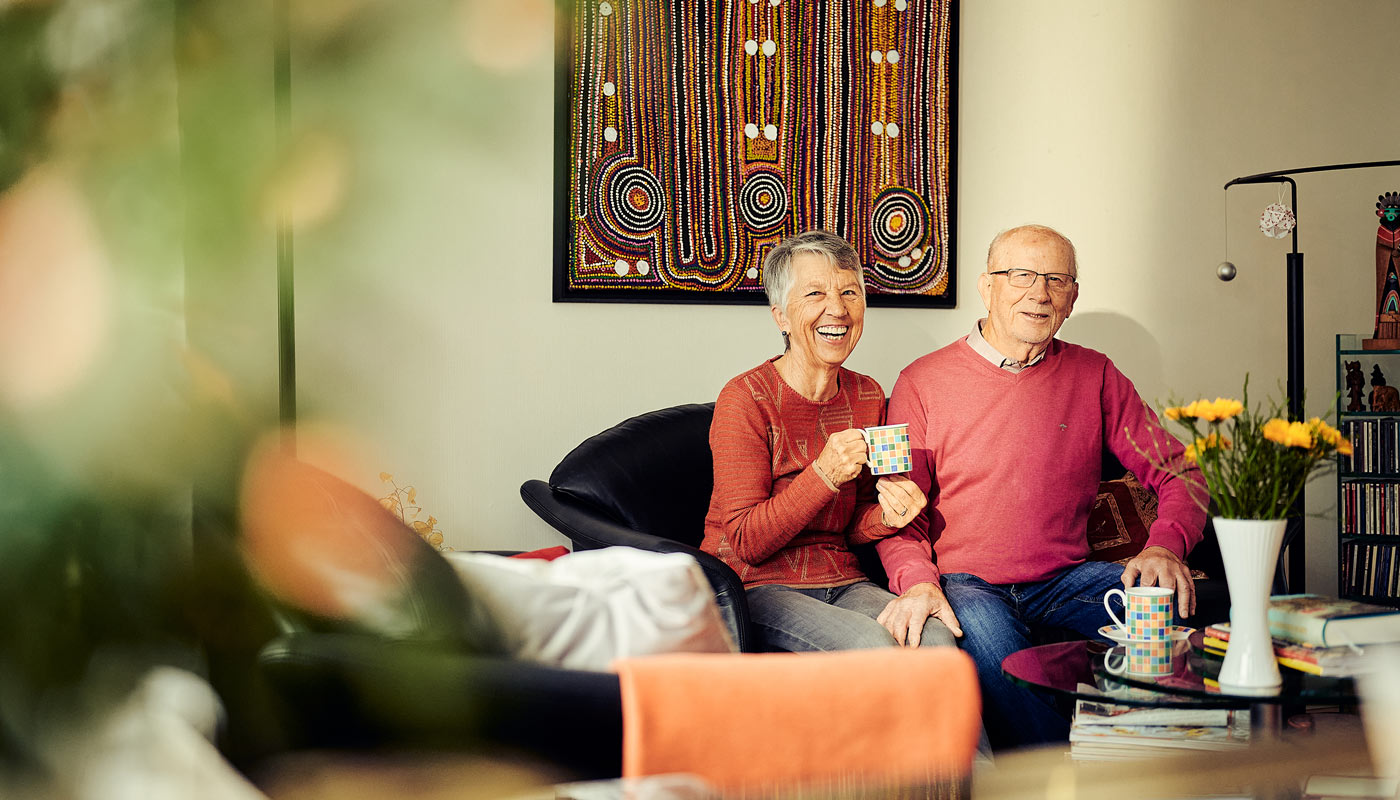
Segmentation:
<svg viewBox="0 0 1400 800">
<path fill-rule="evenodd" d="M 637 548 L 658 553 L 687 553 L 700 562 L 706 579 L 714 587 L 714 598 L 720 615 L 729 626 L 734 643 L 739 650 L 750 651 L 756 639 L 749 630 L 749 607 L 743 600 L 743 581 L 729 565 L 713 555 L 687 544 L 634 531 L 615 523 L 594 507 L 556 492 L 543 481 L 526 481 L 521 485 L 521 499 L 549 523 L 554 530 L 568 537 L 574 549 L 598 549 L 608 546 Z"/>
</svg>

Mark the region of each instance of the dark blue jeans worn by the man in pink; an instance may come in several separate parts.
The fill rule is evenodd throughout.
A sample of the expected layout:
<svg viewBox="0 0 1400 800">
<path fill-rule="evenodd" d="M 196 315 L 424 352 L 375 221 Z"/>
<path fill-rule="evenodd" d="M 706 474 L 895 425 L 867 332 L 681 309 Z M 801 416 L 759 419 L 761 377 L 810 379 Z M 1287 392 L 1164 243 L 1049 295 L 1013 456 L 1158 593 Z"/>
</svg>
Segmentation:
<svg viewBox="0 0 1400 800">
<path fill-rule="evenodd" d="M 994 750 L 1070 737 L 1070 722 L 1043 694 L 1001 674 L 1007 656 L 1032 644 L 1039 626 L 1068 628 L 1089 639 L 1112 622 L 1103 593 L 1121 587 L 1123 566 L 1085 562 L 1040 583 L 994 586 L 974 574 L 942 576 L 944 594 L 963 629 L 962 649 L 977 664 L 981 719 Z"/>
</svg>

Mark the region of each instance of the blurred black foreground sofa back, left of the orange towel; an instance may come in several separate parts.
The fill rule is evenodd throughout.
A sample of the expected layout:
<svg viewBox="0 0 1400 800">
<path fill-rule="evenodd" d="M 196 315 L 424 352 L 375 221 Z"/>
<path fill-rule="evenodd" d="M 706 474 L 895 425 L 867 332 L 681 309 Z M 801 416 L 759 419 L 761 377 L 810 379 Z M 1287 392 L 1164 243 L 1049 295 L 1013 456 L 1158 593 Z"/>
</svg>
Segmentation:
<svg viewBox="0 0 1400 800">
<path fill-rule="evenodd" d="M 622 775 L 612 673 L 315 630 L 276 637 L 258 664 L 287 750 L 501 754 L 560 780 Z"/>
</svg>

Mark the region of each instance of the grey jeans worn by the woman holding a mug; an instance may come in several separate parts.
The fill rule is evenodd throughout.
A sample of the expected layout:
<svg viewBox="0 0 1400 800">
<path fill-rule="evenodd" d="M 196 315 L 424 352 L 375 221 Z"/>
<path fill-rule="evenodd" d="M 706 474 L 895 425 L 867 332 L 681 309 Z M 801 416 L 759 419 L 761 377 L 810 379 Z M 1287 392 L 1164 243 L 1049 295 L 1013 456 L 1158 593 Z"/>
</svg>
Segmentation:
<svg viewBox="0 0 1400 800">
<path fill-rule="evenodd" d="M 745 591 L 749 616 L 770 650 L 806 653 L 893 647 L 895 637 L 875 621 L 895 595 L 868 580 L 830 588 L 763 584 Z M 956 647 L 941 619 L 924 625 L 921 647 Z"/>
</svg>

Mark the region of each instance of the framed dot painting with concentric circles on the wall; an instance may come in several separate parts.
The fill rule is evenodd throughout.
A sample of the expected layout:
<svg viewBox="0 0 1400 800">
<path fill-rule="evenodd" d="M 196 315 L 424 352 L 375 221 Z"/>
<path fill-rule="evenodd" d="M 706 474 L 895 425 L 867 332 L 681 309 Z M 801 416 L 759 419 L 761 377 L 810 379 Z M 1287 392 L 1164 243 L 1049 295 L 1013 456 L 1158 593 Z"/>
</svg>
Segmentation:
<svg viewBox="0 0 1400 800">
<path fill-rule="evenodd" d="M 953 305 L 953 6 L 564 3 L 554 298 L 762 303 L 826 228 L 872 305 Z"/>
</svg>

